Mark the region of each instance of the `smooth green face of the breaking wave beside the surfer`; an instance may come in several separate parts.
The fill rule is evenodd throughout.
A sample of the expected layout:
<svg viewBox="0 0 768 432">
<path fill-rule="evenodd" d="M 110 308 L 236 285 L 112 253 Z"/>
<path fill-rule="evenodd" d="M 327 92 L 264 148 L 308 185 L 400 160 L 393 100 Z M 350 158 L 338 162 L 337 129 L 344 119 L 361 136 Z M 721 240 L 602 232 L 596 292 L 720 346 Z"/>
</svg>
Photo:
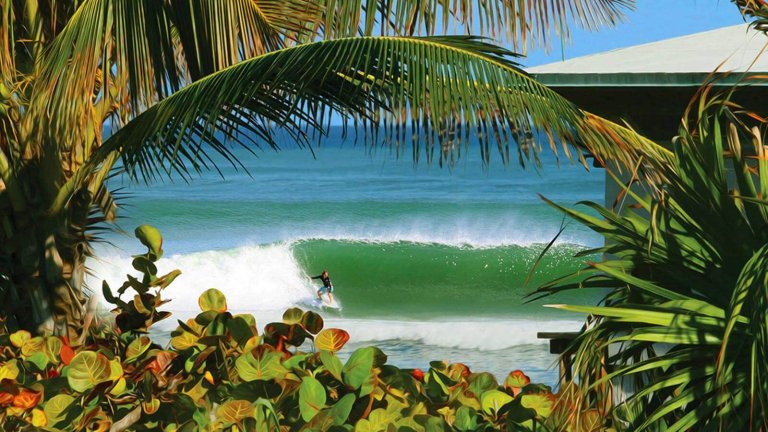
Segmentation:
<svg viewBox="0 0 768 432">
<path fill-rule="evenodd" d="M 583 266 L 583 248 L 555 245 L 528 273 L 544 245 L 456 247 L 411 242 L 304 240 L 293 252 L 314 276 L 328 269 L 345 316 L 419 317 L 483 315 L 541 318 L 546 308 L 525 304 L 525 295 L 553 277 Z M 570 294 L 541 303 L 594 301 L 599 293 Z M 565 318 L 556 312 L 558 318 Z"/>
</svg>

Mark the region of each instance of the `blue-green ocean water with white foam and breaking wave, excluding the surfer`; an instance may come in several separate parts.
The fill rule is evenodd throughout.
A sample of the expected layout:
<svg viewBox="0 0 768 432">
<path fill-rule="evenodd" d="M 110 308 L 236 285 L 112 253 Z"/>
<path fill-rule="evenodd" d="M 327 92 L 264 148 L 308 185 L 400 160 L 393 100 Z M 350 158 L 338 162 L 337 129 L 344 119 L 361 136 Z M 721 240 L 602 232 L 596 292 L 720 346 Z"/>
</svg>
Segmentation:
<svg viewBox="0 0 768 432">
<path fill-rule="evenodd" d="M 578 330 L 581 317 L 542 304 L 598 297 L 524 297 L 579 268 L 573 255 L 601 239 L 568 224 L 526 284 L 564 222 L 537 194 L 569 205 L 600 202 L 601 170 L 567 160 L 558 168 L 549 154 L 538 171 L 498 159 L 483 167 L 476 148 L 440 168 L 338 137 L 314 154 L 290 143 L 280 152 L 235 153 L 247 171 L 224 163 L 223 177 L 206 172 L 189 184 L 112 181 L 127 194 L 120 226 L 128 233 L 141 223 L 158 227 L 165 238 L 160 271 L 182 270 L 166 294 L 174 318 L 193 316 L 198 295 L 216 287 L 230 309 L 253 313 L 263 327 L 288 307 L 311 308 L 317 284 L 307 276 L 327 268 L 341 309 L 321 313 L 326 327 L 350 332 L 342 354 L 376 344 L 401 367 L 461 361 L 500 379 L 523 369 L 556 383 L 556 357 L 536 333 Z M 130 256 L 142 252 L 132 235 L 108 240 L 89 262 L 91 286 L 102 279 L 118 286 Z"/>
</svg>

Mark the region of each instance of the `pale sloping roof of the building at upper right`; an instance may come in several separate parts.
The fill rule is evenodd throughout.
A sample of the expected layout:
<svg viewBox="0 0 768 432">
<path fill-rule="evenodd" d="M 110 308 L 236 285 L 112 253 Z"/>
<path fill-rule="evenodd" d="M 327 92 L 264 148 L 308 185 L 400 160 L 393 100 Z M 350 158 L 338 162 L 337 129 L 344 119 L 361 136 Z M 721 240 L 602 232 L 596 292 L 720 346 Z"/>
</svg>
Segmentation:
<svg viewBox="0 0 768 432">
<path fill-rule="evenodd" d="M 767 43 L 764 34 L 739 24 L 549 63 L 528 72 L 550 86 L 699 86 L 720 66 L 724 75 L 733 72 L 722 79 L 730 84 L 747 71 L 768 72 L 768 53 L 759 56 Z"/>
</svg>

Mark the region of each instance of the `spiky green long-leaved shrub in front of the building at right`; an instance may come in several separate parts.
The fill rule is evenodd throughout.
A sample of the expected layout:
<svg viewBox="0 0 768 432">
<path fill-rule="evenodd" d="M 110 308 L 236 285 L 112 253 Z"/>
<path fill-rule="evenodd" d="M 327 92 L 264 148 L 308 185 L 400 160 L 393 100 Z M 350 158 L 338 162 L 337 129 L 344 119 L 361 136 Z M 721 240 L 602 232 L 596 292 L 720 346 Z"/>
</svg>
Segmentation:
<svg viewBox="0 0 768 432">
<path fill-rule="evenodd" d="M 614 401 L 629 430 L 768 430 L 768 121 L 732 94 L 701 89 L 674 158 L 649 161 L 664 182 L 625 185 L 631 205 L 552 204 L 603 235 L 588 253 L 607 258 L 538 294 L 608 290 L 556 307 L 590 314 L 577 405 Z"/>
</svg>

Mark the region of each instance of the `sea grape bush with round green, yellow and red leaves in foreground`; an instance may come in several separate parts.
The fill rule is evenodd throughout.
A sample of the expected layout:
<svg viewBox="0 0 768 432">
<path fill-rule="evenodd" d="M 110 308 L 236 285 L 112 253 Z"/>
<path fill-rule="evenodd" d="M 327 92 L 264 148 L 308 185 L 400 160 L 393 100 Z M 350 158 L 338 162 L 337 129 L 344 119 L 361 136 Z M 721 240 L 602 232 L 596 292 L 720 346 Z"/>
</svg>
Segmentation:
<svg viewBox="0 0 768 432">
<path fill-rule="evenodd" d="M 128 280 L 104 298 L 114 320 L 95 317 L 83 340 L 26 331 L 0 334 L 4 430 L 476 431 L 549 430 L 555 395 L 514 371 L 500 385 L 461 363 L 426 372 L 387 364 L 375 347 L 337 352 L 349 340 L 312 311 L 289 309 L 259 333 L 251 315 L 227 311 L 210 289 L 201 312 L 178 322 L 168 347 L 148 330 L 170 313 L 162 298 L 178 271 L 158 276 L 162 237 Z M 551 418 L 555 418 L 552 415 Z M 546 429 L 544 429 L 546 428 Z"/>
</svg>

